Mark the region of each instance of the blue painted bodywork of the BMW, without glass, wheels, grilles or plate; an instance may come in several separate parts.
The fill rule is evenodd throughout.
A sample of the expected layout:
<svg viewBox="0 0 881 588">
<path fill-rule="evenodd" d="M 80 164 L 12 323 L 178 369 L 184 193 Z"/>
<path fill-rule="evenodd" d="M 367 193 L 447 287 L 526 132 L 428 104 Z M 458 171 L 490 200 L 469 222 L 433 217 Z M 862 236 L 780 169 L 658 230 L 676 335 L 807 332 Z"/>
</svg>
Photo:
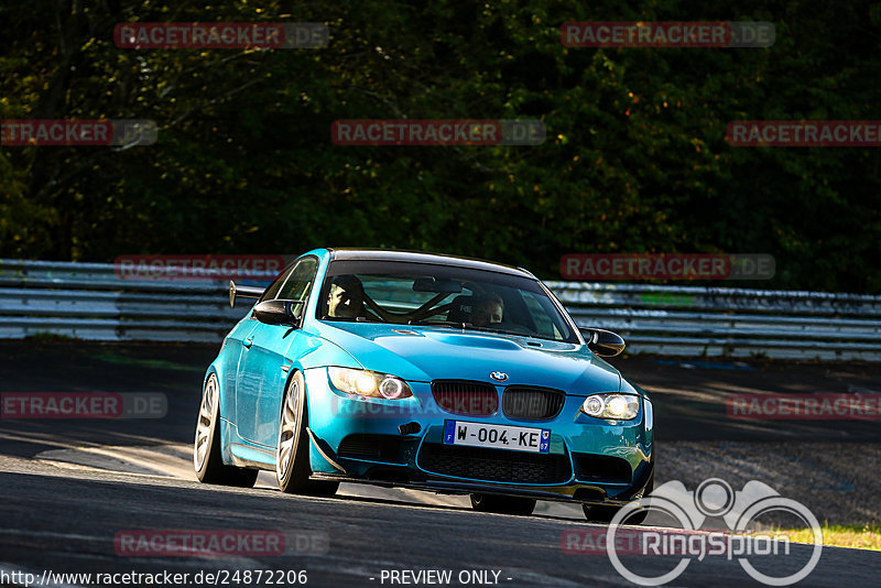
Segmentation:
<svg viewBox="0 0 881 588">
<path fill-rule="evenodd" d="M 537 282 L 532 274 L 427 253 L 317 249 L 298 259 L 307 257 L 317 261 L 316 286 L 305 300 L 298 327 L 261 323 L 252 308 L 227 335 L 206 373 L 206 380 L 215 374 L 219 385 L 225 465 L 275 468 L 283 393 L 292 375 L 301 372 L 312 479 L 611 505 L 641 497 L 654 467 L 651 402 L 596 356 L 580 334 L 577 342 L 536 341 L 465 328 L 329 322 L 316 314 L 323 296 L 318 284 L 329 264 L 340 259 L 460 264 Z M 412 396 L 389 400 L 341 392 L 331 384 L 328 367 L 395 374 Z M 504 381 L 491 377 L 498 372 L 507 374 Z M 482 383 L 481 390 L 491 385 L 502 401 L 493 414 L 449 412 L 433 394 L 433 382 L 440 380 Z M 504 394 L 516 386 L 561 392 L 562 407 L 547 420 L 508 415 Z M 591 394 L 613 392 L 638 396 L 635 418 L 591 417 L 581 410 Z M 445 444 L 453 421 L 550 434 L 542 440 L 542 453 L 458 447 Z"/>
</svg>

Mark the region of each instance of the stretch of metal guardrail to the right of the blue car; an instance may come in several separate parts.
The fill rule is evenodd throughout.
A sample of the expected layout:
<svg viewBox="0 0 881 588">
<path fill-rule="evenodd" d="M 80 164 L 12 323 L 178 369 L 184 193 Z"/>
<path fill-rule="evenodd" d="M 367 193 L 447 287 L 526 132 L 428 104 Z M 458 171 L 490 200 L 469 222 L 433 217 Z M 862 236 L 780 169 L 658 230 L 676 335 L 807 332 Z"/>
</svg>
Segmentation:
<svg viewBox="0 0 881 588">
<path fill-rule="evenodd" d="M 881 296 L 546 282 L 580 326 L 632 352 L 881 360 Z"/>
</svg>

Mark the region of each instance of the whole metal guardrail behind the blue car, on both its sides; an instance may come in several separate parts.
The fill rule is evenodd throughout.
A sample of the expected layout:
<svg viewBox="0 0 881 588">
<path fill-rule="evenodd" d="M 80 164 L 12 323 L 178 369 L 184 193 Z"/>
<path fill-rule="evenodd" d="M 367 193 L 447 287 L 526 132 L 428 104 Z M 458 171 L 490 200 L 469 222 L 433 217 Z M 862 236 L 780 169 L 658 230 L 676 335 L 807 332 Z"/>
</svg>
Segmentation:
<svg viewBox="0 0 881 588">
<path fill-rule="evenodd" d="M 546 284 L 578 325 L 619 333 L 631 353 L 881 360 L 881 296 Z M 134 281 L 109 263 L 0 260 L 0 338 L 219 342 L 247 311 L 229 307 L 227 281 Z"/>
</svg>

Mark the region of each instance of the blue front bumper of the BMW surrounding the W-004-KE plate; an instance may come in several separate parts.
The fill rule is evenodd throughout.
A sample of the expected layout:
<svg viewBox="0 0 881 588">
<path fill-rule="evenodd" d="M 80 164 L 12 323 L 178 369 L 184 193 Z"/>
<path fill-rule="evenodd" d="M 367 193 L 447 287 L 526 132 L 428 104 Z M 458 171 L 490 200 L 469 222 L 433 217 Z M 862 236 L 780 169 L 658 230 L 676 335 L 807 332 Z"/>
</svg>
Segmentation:
<svg viewBox="0 0 881 588">
<path fill-rule="evenodd" d="M 642 496 L 654 467 L 644 401 L 632 421 L 591 418 L 579 411 L 584 396 L 566 396 L 552 420 L 527 421 L 509 418 L 501 410 L 491 416 L 445 412 L 427 382 L 407 382 L 413 396 L 389 401 L 335 390 L 325 368 L 304 375 L 316 478 L 624 504 Z M 550 428 L 548 453 L 444 445 L 447 420 Z M 418 425 L 418 431 L 401 434 L 401 425 Z"/>
</svg>

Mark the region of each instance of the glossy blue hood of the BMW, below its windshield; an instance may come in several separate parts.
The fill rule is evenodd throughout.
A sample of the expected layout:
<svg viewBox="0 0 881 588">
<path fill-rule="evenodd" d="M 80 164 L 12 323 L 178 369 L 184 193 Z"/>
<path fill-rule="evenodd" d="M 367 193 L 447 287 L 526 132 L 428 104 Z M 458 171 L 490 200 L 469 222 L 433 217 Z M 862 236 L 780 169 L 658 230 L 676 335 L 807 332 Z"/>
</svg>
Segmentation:
<svg viewBox="0 0 881 588">
<path fill-rule="evenodd" d="M 617 392 L 621 375 L 587 346 L 531 337 L 376 323 L 320 323 L 319 336 L 342 347 L 366 369 L 404 380 L 438 379 L 531 384 L 589 395 Z M 541 347 L 539 347 L 541 346 Z"/>
</svg>

